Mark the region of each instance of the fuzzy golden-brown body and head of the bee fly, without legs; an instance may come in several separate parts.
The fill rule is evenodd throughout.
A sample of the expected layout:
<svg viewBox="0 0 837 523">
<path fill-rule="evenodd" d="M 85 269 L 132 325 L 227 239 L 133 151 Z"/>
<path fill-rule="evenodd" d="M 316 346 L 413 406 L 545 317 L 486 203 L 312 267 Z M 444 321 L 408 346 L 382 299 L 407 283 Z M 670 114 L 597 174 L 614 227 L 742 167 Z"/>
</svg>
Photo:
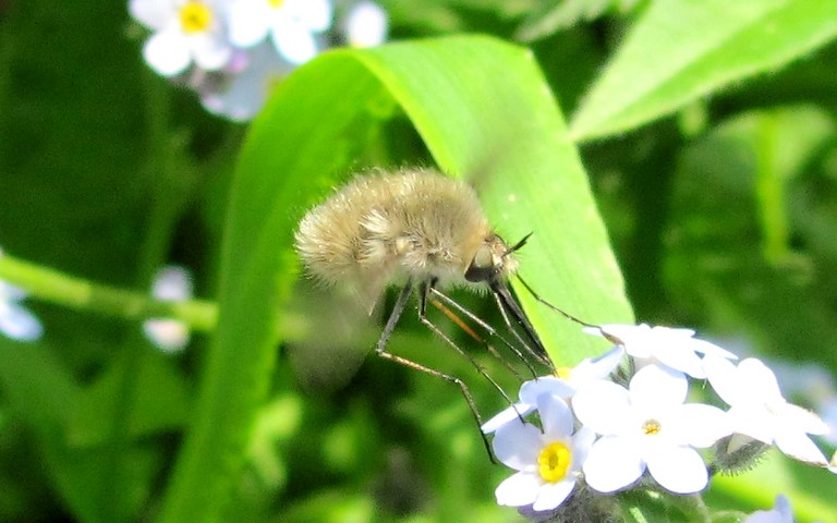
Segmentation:
<svg viewBox="0 0 837 523">
<path fill-rule="evenodd" d="M 351 285 L 367 305 L 405 279 L 466 284 L 517 270 L 474 190 L 432 169 L 355 177 L 305 215 L 295 239 L 311 276 Z"/>
</svg>

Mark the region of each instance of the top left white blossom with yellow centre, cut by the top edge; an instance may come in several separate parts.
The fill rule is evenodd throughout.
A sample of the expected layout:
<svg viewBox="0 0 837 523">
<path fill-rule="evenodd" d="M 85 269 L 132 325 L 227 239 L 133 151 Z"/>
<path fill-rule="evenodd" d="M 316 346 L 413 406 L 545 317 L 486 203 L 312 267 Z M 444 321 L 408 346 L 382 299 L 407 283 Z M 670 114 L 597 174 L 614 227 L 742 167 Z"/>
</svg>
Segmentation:
<svg viewBox="0 0 837 523">
<path fill-rule="evenodd" d="M 219 0 L 131 0 L 129 10 L 154 31 L 143 47 L 148 65 L 162 76 L 193 62 L 206 71 L 225 66 L 232 53 Z"/>
</svg>

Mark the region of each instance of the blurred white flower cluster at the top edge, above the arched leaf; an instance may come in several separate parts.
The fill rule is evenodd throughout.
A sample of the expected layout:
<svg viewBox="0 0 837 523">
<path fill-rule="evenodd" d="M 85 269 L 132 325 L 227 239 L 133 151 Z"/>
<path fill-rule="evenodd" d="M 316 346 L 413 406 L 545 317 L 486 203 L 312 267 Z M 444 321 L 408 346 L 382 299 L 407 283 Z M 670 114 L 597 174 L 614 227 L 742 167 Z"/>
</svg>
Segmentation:
<svg viewBox="0 0 837 523">
<path fill-rule="evenodd" d="M 153 32 L 143 57 L 158 74 L 194 89 L 204 107 L 246 121 L 269 89 L 332 45 L 371 47 L 387 14 L 368 0 L 129 0 Z"/>
</svg>

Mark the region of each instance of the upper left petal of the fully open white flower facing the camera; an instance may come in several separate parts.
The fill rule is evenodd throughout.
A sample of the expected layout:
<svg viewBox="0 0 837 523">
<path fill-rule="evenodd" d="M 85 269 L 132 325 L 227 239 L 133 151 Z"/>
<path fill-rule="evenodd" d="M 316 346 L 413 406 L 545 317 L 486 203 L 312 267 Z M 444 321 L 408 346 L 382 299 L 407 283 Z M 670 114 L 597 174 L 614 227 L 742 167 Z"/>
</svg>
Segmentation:
<svg viewBox="0 0 837 523">
<path fill-rule="evenodd" d="M 617 434 L 630 414 L 628 391 L 612 381 L 590 381 L 572 397 L 572 410 L 582 424 L 598 434 Z"/>
</svg>

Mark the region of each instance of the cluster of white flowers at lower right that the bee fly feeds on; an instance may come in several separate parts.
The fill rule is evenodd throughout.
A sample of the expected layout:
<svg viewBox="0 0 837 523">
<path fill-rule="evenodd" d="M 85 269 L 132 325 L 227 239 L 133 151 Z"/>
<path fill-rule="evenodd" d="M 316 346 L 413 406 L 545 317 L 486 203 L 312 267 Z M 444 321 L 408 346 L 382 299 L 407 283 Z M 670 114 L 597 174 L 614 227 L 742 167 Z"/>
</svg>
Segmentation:
<svg viewBox="0 0 837 523">
<path fill-rule="evenodd" d="M 605 325 L 585 330 L 614 348 L 559 373 L 563 377 L 523 384 L 520 401 L 483 425 L 484 433 L 494 434 L 497 459 L 518 471 L 497 488 L 498 503 L 553 511 L 579 485 L 599 494 L 639 484 L 699 492 L 709 470 L 745 469 L 769 446 L 829 466 L 809 437 L 828 427 L 788 403 L 761 361 L 736 363 L 735 354 L 688 329 Z M 687 401 L 693 379 L 705 380 L 725 408 Z M 709 465 L 706 454 L 714 454 Z"/>
</svg>

